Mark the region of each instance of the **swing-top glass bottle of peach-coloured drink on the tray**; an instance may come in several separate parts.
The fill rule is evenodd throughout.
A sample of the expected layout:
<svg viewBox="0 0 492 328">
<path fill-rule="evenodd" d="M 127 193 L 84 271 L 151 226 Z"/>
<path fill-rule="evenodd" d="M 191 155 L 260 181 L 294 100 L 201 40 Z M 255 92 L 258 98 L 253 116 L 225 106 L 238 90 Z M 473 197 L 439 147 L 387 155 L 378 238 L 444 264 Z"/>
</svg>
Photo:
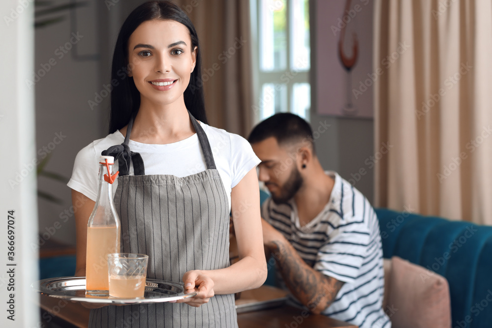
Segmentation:
<svg viewBox="0 0 492 328">
<path fill-rule="evenodd" d="M 87 224 L 86 292 L 107 294 L 109 291 L 108 259 L 120 252 L 120 218 L 113 201 L 114 157 L 99 157 L 99 190 Z"/>
</svg>

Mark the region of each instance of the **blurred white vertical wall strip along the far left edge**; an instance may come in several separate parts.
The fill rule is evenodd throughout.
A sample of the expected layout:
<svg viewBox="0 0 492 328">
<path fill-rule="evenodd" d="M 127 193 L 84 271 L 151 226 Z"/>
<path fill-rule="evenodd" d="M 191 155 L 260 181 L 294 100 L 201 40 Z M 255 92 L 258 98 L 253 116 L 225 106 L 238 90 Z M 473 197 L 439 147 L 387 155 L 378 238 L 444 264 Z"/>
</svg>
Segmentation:
<svg viewBox="0 0 492 328">
<path fill-rule="evenodd" d="M 38 296 L 31 289 L 37 280 L 37 254 L 29 250 L 37 230 L 34 93 L 24 83 L 33 61 L 32 3 L 2 0 L 0 13 L 0 323 L 34 327 L 39 313 Z"/>
</svg>

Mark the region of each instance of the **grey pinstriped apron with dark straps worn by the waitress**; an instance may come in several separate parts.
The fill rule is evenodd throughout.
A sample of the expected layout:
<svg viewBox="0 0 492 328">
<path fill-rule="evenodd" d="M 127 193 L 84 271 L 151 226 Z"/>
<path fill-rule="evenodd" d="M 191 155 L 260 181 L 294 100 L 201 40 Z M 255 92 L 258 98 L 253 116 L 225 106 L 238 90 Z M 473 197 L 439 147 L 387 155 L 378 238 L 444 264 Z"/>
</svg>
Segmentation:
<svg viewBox="0 0 492 328">
<path fill-rule="evenodd" d="M 103 151 L 119 160 L 115 206 L 121 251 L 149 255 L 151 279 L 182 282 L 188 270 L 229 266 L 227 195 L 207 135 L 189 116 L 207 164 L 203 172 L 184 178 L 145 175 L 142 157 L 128 147 L 133 119 L 123 144 Z M 130 159 L 134 176 L 128 175 Z M 215 295 L 198 308 L 169 302 L 105 306 L 91 311 L 89 327 L 237 327 L 234 295 Z"/>
</svg>

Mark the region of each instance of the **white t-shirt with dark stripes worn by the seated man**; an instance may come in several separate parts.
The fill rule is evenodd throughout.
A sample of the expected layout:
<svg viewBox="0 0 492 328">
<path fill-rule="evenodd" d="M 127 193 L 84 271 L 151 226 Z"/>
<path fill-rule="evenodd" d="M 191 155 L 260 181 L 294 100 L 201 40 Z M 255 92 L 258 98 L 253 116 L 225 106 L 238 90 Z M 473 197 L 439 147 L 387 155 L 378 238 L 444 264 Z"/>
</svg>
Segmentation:
<svg viewBox="0 0 492 328">
<path fill-rule="evenodd" d="M 330 201 L 305 226 L 299 224 L 293 199 L 277 205 L 269 198 L 262 217 L 290 241 L 308 266 L 344 282 L 324 315 L 361 328 L 390 328 L 382 309 L 383 251 L 376 213 L 348 181 L 336 172 L 326 174 L 335 179 Z"/>
</svg>

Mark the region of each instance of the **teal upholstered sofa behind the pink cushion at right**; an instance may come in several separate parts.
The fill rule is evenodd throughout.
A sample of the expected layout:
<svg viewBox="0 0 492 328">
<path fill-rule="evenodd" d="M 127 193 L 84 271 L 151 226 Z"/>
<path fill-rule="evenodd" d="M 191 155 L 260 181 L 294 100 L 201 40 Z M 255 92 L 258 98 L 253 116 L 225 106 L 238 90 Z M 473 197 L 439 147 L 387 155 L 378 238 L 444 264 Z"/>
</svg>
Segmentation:
<svg viewBox="0 0 492 328">
<path fill-rule="evenodd" d="M 399 256 L 448 280 L 453 328 L 492 327 L 492 226 L 389 209 L 376 214 L 384 258 Z"/>
</svg>

